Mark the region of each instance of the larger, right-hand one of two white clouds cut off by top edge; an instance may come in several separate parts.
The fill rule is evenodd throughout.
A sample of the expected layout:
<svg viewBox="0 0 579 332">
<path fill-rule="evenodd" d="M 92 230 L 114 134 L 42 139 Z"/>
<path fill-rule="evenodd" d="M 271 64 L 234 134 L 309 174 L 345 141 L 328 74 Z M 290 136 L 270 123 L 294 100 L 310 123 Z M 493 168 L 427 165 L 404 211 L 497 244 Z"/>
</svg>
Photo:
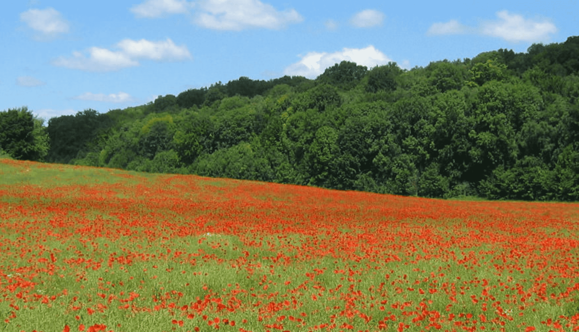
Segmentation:
<svg viewBox="0 0 579 332">
<path fill-rule="evenodd" d="M 259 0 L 203 0 L 197 4 L 195 22 L 215 30 L 280 29 L 303 20 L 295 9 L 278 11 Z"/>
</svg>

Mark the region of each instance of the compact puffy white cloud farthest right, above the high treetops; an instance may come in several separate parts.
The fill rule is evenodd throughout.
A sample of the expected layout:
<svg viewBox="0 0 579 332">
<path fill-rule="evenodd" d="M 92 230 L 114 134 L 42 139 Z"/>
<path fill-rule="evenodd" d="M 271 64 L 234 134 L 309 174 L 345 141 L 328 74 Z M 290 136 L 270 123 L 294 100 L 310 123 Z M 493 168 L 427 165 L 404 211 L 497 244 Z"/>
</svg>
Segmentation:
<svg viewBox="0 0 579 332">
<path fill-rule="evenodd" d="M 536 42 L 548 39 L 557 32 L 555 24 L 524 19 L 521 15 L 509 14 L 507 10 L 497 13 L 499 20 L 482 25 L 481 33 L 499 37 L 510 42 Z"/>
</svg>

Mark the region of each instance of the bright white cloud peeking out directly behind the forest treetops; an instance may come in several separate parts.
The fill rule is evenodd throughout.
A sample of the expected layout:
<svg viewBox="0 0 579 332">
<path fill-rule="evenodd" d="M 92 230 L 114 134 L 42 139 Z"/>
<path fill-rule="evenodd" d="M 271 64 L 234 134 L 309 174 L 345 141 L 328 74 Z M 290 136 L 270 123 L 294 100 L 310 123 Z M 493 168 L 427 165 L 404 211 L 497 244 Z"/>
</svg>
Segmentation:
<svg viewBox="0 0 579 332">
<path fill-rule="evenodd" d="M 334 53 L 309 52 L 302 57 L 302 60 L 285 68 L 284 75 L 316 78 L 318 75 L 323 74 L 326 68 L 343 60 L 352 61 L 367 67 L 383 65 L 392 61 L 372 45 L 363 49 L 343 48 L 342 51 Z"/>
</svg>

